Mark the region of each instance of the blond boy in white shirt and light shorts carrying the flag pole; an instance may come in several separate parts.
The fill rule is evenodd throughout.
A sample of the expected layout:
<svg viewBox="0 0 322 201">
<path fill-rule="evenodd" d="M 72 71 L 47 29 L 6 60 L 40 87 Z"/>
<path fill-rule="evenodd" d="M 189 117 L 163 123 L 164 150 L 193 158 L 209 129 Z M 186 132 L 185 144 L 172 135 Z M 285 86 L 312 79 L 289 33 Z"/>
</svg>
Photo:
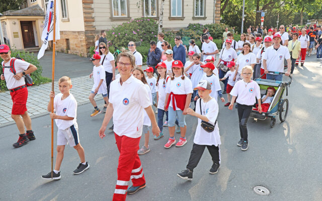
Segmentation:
<svg viewBox="0 0 322 201">
<path fill-rule="evenodd" d="M 98 60 L 99 61 L 99 60 Z M 74 96 L 69 92 L 71 80 L 67 76 L 63 76 L 58 80 L 60 93 L 55 95 L 54 91 L 50 92 L 50 100 L 47 110 L 51 112 L 53 104 L 55 113 L 50 113 L 50 118 L 54 119 L 58 127 L 57 130 L 57 156 L 55 169 L 46 175 L 42 175 L 43 179 L 60 179 L 60 165 L 64 157 L 65 145 L 73 147 L 81 159 L 78 167 L 73 171 L 74 174 L 80 174 L 90 168 L 90 165 L 85 160 L 85 152 L 82 145 L 79 143 L 78 125 L 76 122 L 77 102 Z M 53 101 L 53 102 L 52 102 Z"/>
</svg>

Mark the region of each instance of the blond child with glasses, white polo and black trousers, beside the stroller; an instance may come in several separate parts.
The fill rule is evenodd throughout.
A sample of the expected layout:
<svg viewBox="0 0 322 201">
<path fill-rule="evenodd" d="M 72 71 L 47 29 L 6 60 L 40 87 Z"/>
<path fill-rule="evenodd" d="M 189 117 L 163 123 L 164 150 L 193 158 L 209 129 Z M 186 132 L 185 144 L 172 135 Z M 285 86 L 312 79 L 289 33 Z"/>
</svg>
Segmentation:
<svg viewBox="0 0 322 201">
<path fill-rule="evenodd" d="M 248 149 L 247 120 L 256 103 L 255 98 L 258 99 L 259 103 L 258 111 L 259 113 L 262 113 L 261 90 L 257 82 L 251 80 L 251 77 L 253 76 L 253 68 L 251 66 L 247 65 L 243 67 L 241 74 L 244 79 L 237 81 L 230 91 L 232 99 L 228 109 L 232 110 L 235 99 L 238 96 L 236 102 L 238 106 L 240 140 L 238 141 L 237 146 L 241 147 L 241 150 L 246 151 Z"/>
</svg>

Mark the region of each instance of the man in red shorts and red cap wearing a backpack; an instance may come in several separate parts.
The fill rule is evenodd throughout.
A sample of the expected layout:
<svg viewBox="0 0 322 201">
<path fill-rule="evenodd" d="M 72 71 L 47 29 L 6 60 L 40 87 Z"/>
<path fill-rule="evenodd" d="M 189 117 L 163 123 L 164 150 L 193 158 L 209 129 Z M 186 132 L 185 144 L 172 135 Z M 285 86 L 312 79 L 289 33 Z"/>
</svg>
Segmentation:
<svg viewBox="0 0 322 201">
<path fill-rule="evenodd" d="M 34 72 L 37 67 L 20 59 L 11 62 L 15 58 L 11 58 L 11 51 L 8 45 L 0 45 L 0 57 L 4 60 L 2 62 L 3 74 L 1 74 L 1 79 L 6 80 L 7 88 L 10 90 L 13 101 L 11 118 L 15 120 L 19 130 L 19 139 L 13 146 L 18 148 L 27 144 L 29 140 L 36 139 L 31 128 L 31 119 L 27 113 L 28 89 L 23 76 Z M 15 66 L 15 74 L 10 68 L 11 65 Z M 25 127 L 27 132 L 25 132 Z"/>
</svg>

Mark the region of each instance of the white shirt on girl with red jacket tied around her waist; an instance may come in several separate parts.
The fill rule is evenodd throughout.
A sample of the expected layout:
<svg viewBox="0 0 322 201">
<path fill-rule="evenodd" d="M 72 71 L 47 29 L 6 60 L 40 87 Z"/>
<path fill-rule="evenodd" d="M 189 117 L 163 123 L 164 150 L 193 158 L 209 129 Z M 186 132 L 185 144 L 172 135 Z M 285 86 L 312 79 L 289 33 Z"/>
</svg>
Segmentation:
<svg viewBox="0 0 322 201">
<path fill-rule="evenodd" d="M 171 92 L 173 92 L 174 94 L 193 93 L 191 80 L 186 76 L 185 76 L 185 79 L 181 79 L 181 76 L 175 77 L 174 80 L 171 80 L 171 78 L 169 78 L 167 81 L 166 93 L 171 93 Z M 169 107 L 172 107 L 172 106 L 173 104 L 172 104 L 172 98 L 171 98 Z M 180 110 L 180 108 L 177 107 L 177 103 L 175 103 L 175 106 L 176 106 L 176 110 Z"/>
</svg>

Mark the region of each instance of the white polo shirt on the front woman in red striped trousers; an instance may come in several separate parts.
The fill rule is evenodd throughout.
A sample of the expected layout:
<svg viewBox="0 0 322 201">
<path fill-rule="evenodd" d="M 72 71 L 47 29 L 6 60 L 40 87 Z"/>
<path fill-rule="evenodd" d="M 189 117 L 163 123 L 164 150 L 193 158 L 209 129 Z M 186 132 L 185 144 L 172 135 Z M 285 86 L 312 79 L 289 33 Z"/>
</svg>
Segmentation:
<svg viewBox="0 0 322 201">
<path fill-rule="evenodd" d="M 133 75 L 122 85 L 120 79 L 113 80 L 110 85 L 114 132 L 119 136 L 138 138 L 142 134 L 143 110 L 151 105 L 149 95 L 143 82 Z"/>
</svg>

